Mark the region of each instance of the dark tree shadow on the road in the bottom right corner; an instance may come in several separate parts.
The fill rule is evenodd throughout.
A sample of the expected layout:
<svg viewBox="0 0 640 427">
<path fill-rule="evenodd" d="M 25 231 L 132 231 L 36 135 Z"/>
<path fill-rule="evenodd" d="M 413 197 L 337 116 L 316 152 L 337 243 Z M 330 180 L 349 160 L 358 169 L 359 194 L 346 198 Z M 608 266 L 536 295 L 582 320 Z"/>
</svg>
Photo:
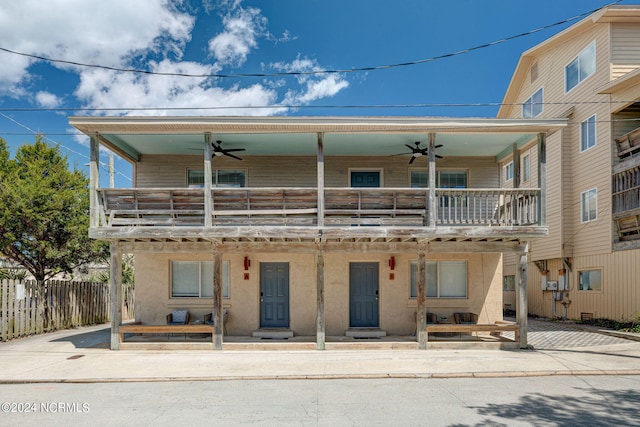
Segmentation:
<svg viewBox="0 0 640 427">
<path fill-rule="evenodd" d="M 480 415 L 531 425 L 639 425 L 640 391 L 576 388 L 576 395 L 579 397 L 535 393 L 520 398 L 517 403 L 496 403 L 471 409 L 476 409 Z"/>
</svg>

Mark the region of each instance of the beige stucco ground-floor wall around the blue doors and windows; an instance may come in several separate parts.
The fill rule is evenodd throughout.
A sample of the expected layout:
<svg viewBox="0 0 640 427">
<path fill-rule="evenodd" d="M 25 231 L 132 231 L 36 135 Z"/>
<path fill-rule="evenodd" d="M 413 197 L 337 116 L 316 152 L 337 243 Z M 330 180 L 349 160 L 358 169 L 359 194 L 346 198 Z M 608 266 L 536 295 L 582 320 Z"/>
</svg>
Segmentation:
<svg viewBox="0 0 640 427">
<path fill-rule="evenodd" d="M 243 259 L 251 267 L 245 280 Z M 390 335 L 410 335 L 415 330 L 416 300 L 409 297 L 410 262 L 415 253 L 394 253 L 396 268 L 388 266 L 391 254 L 325 254 L 325 324 L 328 336 L 344 335 L 349 328 L 349 263 L 378 262 L 380 289 L 380 328 Z M 136 320 L 147 324 L 164 324 L 173 309 L 186 308 L 192 319 L 203 319 L 211 311 L 212 299 L 171 298 L 170 265 L 172 260 L 210 260 L 207 253 L 136 254 Z M 502 255 L 428 253 L 427 260 L 466 260 L 468 298 L 428 299 L 427 310 L 451 317 L 456 311 L 471 311 L 481 323 L 502 319 Z M 230 317 L 230 335 L 250 335 L 260 325 L 260 263 L 288 262 L 290 290 L 290 329 L 296 335 L 315 335 L 316 328 L 316 260 L 312 253 L 225 254 L 229 261 L 229 298 L 223 299 Z M 393 274 L 393 278 L 391 278 Z"/>
</svg>

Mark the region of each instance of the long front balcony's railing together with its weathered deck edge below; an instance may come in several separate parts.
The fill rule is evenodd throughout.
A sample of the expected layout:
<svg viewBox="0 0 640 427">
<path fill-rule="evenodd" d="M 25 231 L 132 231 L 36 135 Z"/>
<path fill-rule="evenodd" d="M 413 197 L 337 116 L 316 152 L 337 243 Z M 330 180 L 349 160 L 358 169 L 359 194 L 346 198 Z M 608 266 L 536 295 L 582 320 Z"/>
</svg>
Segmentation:
<svg viewBox="0 0 640 427">
<path fill-rule="evenodd" d="M 203 189 L 99 189 L 92 236 L 220 238 L 269 233 L 304 239 L 338 234 L 411 238 L 546 233 L 539 189 L 440 188 L 435 189 L 433 203 L 428 188 L 325 188 L 320 198 L 316 188 L 300 187 L 214 188 L 211 193 L 207 209 Z M 205 226 L 209 214 L 211 226 Z"/>
</svg>

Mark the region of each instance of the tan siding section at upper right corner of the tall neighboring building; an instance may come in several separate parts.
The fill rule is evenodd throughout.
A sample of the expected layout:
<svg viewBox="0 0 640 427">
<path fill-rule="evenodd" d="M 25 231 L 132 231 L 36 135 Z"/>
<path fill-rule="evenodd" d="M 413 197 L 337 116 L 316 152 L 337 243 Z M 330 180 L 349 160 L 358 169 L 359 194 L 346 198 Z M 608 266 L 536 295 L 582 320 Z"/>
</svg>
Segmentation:
<svg viewBox="0 0 640 427">
<path fill-rule="evenodd" d="M 640 67 L 640 26 L 615 23 L 611 28 L 611 79 Z"/>
</svg>

